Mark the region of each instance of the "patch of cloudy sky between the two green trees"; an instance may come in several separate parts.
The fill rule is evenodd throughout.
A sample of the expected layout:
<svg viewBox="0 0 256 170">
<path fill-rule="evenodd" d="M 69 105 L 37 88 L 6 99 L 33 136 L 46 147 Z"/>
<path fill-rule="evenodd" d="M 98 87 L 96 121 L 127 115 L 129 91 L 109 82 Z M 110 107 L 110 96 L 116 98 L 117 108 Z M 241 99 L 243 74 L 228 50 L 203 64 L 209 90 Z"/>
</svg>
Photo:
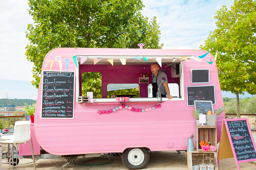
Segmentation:
<svg viewBox="0 0 256 170">
<path fill-rule="evenodd" d="M 157 17 L 160 23 L 163 49 L 199 49 L 210 31 L 215 29 L 214 15 L 223 5 L 230 7 L 232 0 L 175 1 L 144 0 L 144 17 Z"/>
</svg>

